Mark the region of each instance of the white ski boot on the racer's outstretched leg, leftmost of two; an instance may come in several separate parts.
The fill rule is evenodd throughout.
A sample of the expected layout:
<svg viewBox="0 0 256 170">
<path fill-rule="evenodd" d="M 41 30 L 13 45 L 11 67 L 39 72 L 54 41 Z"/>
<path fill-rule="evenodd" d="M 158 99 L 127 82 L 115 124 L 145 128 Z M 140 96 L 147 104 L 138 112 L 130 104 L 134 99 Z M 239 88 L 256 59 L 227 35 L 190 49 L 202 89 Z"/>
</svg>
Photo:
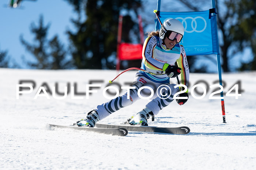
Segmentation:
<svg viewBox="0 0 256 170">
<path fill-rule="evenodd" d="M 95 123 L 99 121 L 99 115 L 96 110 L 92 110 L 88 113 L 86 116 L 86 119 L 82 119 L 74 123 L 74 125 L 78 126 L 89 126 L 89 127 L 94 127 Z"/>
</svg>

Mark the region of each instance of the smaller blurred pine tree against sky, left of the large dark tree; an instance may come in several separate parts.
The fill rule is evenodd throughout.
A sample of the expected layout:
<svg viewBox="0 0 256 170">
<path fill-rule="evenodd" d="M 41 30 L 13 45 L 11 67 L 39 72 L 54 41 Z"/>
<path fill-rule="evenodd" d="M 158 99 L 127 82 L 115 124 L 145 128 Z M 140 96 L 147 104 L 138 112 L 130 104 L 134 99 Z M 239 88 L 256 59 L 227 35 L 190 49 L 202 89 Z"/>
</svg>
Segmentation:
<svg viewBox="0 0 256 170">
<path fill-rule="evenodd" d="M 50 24 L 44 26 L 44 18 L 39 17 L 39 25 L 31 24 L 31 32 L 34 34 L 35 44 L 30 44 L 20 36 L 21 43 L 33 54 L 37 62 L 28 62 L 29 66 L 37 69 L 68 69 L 72 62 L 67 60 L 67 51 L 55 35 L 51 40 L 47 39 Z"/>
</svg>

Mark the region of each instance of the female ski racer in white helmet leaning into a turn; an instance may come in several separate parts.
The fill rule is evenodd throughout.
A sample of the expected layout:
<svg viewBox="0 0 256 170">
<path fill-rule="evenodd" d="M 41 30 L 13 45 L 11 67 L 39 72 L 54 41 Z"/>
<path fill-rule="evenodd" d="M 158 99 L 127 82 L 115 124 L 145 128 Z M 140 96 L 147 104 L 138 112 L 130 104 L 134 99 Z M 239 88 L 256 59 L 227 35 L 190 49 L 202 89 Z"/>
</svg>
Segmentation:
<svg viewBox="0 0 256 170">
<path fill-rule="evenodd" d="M 183 35 L 184 27 L 182 23 L 176 19 L 168 19 L 162 24 L 160 31 L 150 32 L 143 45 L 141 68 L 153 73 L 165 72 L 165 74 L 152 75 L 139 71 L 135 76 L 133 85 L 131 85 L 134 89 L 129 89 L 124 95 L 98 105 L 94 110 L 88 113 L 86 119 L 79 120 L 74 124 L 78 126 L 94 127 L 95 123 L 99 120 L 104 119 L 120 108 L 136 102 L 139 99 L 138 89 L 148 86 L 154 89 L 153 100 L 151 100 L 142 111 L 125 122 L 131 125 L 141 124 L 148 126 L 147 119 L 150 117 L 154 118 L 160 110 L 173 101 L 174 94 L 184 90 L 184 87 L 174 88 L 176 84 L 170 84 L 170 78 L 175 78 L 180 75 L 181 84 L 188 86 L 189 68 L 187 57 L 184 47 L 179 44 Z M 157 93 L 157 88 L 161 85 L 166 85 L 169 88 L 162 91 L 162 96 L 160 97 L 158 96 L 159 92 Z M 147 88 L 144 88 L 141 92 L 151 94 L 151 91 Z M 165 96 L 169 97 L 165 98 Z M 181 93 L 179 97 L 187 97 L 187 99 L 176 99 L 178 104 L 184 104 L 188 100 L 188 91 Z"/>
</svg>

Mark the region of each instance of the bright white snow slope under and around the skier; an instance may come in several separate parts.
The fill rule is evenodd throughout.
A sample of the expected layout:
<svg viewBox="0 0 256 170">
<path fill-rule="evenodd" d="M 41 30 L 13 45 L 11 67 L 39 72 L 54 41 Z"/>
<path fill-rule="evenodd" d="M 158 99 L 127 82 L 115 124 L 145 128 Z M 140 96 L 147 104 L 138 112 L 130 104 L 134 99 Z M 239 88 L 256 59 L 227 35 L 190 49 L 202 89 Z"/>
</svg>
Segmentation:
<svg viewBox="0 0 256 170">
<path fill-rule="evenodd" d="M 126 72 L 116 82 L 128 86 L 124 82 L 131 83 L 135 73 Z M 189 95 L 183 106 L 174 100 L 154 122 L 148 122 L 160 127 L 188 126 L 191 133 L 187 135 L 129 132 L 117 137 L 47 128 L 47 123 L 72 124 L 108 101 L 102 91 L 116 74 L 114 70 L 0 69 L 0 169 L 256 169 L 256 72 L 222 74 L 224 92 L 238 80 L 244 90 L 238 99 L 224 97 L 227 123 L 222 123 L 220 99 L 208 99 L 212 90 L 200 100 Z M 20 80 L 32 80 L 35 87 L 16 99 Z M 198 80 L 211 86 L 218 75 L 191 74 L 189 89 Z M 34 99 L 42 84 L 51 91 L 57 85 L 64 92 L 68 83 L 78 93 L 86 92 L 86 84 L 102 87 L 95 88 L 98 92 L 89 99 L 84 94 L 75 95 L 83 99 L 72 99 L 71 93 L 62 100 L 51 94 L 50 99 Z M 141 99 L 100 123 L 121 123 L 147 102 Z"/>
</svg>

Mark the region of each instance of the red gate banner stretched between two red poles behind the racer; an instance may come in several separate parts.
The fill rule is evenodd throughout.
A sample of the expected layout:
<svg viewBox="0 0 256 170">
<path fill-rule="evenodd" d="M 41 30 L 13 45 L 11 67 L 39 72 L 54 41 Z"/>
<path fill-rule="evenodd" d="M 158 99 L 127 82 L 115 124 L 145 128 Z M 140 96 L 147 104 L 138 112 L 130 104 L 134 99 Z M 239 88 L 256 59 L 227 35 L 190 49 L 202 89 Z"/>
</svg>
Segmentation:
<svg viewBox="0 0 256 170">
<path fill-rule="evenodd" d="M 142 59 L 142 48 L 141 44 L 119 44 L 119 60 L 140 60 Z"/>
</svg>

